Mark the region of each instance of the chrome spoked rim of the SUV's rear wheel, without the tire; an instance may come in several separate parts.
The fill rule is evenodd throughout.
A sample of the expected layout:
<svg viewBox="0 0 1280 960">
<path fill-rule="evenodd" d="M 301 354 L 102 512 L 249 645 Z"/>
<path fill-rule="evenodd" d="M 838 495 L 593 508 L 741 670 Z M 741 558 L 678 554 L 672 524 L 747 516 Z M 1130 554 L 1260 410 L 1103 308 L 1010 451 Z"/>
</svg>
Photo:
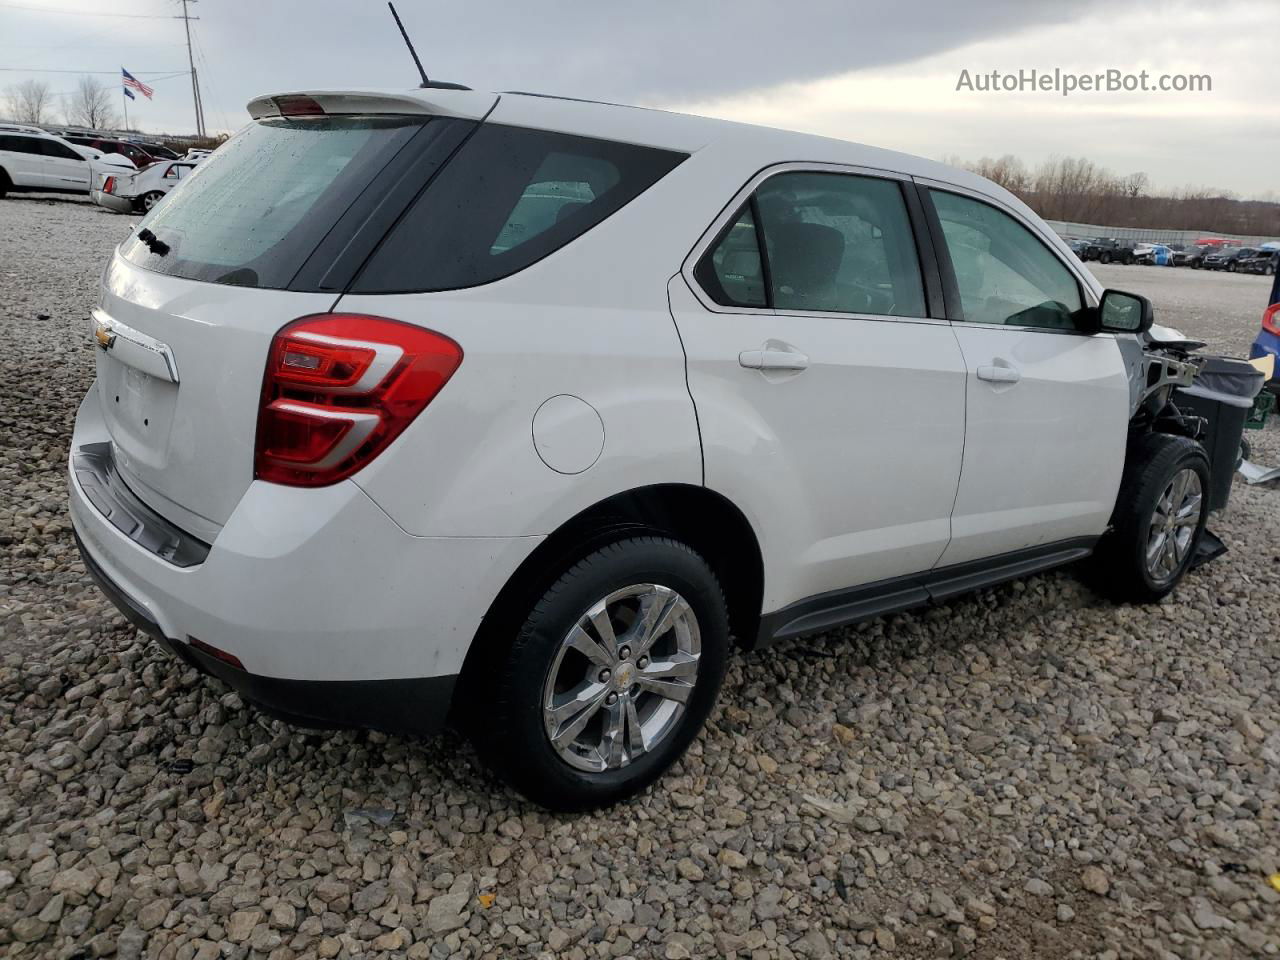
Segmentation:
<svg viewBox="0 0 1280 960">
<path fill-rule="evenodd" d="M 561 759 L 599 773 L 626 767 L 678 724 L 698 682 L 692 608 L 662 584 L 596 600 L 556 650 L 543 727 Z"/>
</svg>

